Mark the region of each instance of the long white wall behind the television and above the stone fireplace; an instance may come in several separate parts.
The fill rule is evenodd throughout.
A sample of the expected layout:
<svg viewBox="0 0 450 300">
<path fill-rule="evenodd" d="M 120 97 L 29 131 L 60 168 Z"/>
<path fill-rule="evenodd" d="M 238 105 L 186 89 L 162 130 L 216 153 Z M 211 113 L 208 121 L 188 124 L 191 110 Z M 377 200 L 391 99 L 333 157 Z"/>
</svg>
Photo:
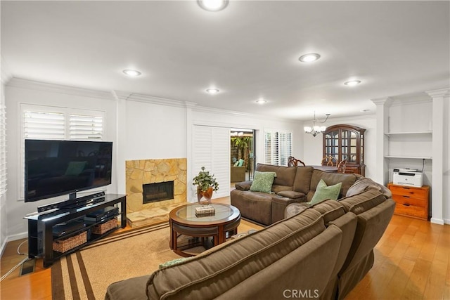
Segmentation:
<svg viewBox="0 0 450 300">
<path fill-rule="evenodd" d="M 57 197 L 27 203 L 20 200 L 21 103 L 104 111 L 105 140 L 115 143 L 115 171 L 108 193 L 125 192 L 126 160 L 186 157 L 188 174 L 192 174 L 189 162 L 193 147 L 191 130 L 195 124 L 256 129 L 260 154 L 257 162 L 264 162 L 264 139 L 261 134 L 264 129 L 292 131 L 293 154 L 298 157 L 303 154 L 301 122 L 211 110 L 195 107 L 192 103 L 130 93 L 91 91 L 13 79 L 6 86 L 8 192 L 4 202 L 6 209 L 2 209 L 6 210 L 7 216 L 1 218 L 7 228 L 8 240 L 27 237 L 27 222 L 23 219 L 25 214 L 36 211 L 37 206 L 64 199 Z M 189 176 L 188 181 L 191 181 Z"/>
</svg>

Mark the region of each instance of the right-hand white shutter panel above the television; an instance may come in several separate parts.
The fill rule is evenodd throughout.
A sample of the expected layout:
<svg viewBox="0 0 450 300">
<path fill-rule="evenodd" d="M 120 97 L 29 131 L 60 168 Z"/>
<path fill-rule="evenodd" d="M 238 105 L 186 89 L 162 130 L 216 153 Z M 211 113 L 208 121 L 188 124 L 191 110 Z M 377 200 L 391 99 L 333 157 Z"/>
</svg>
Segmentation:
<svg viewBox="0 0 450 300">
<path fill-rule="evenodd" d="M 70 140 L 101 140 L 103 117 L 70 115 Z"/>
</svg>

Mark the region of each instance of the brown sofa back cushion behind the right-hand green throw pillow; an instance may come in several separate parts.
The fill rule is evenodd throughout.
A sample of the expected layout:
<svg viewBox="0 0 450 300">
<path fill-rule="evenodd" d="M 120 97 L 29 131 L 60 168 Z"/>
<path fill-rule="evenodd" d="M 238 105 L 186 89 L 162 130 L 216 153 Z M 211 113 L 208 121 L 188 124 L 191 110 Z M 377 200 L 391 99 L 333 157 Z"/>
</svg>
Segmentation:
<svg viewBox="0 0 450 300">
<path fill-rule="evenodd" d="M 353 185 L 356 181 L 355 174 L 341 174 L 341 173 L 329 173 L 321 170 L 316 170 L 312 172 L 311 177 L 311 186 L 308 192 L 308 201 L 311 201 L 314 193 L 316 192 L 316 187 L 319 181 L 323 179 L 326 185 L 335 185 L 336 183 L 342 182 L 342 188 L 340 190 L 340 195 L 338 199 L 345 197 L 347 195 L 347 190 Z"/>
</svg>

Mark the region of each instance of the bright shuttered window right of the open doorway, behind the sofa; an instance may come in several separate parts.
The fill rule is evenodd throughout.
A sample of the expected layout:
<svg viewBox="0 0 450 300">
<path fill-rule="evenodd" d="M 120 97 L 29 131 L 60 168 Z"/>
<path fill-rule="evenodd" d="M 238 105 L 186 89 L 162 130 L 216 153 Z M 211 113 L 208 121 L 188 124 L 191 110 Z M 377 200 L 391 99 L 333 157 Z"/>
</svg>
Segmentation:
<svg viewBox="0 0 450 300">
<path fill-rule="evenodd" d="M 291 132 L 266 131 L 264 132 L 264 152 L 266 164 L 287 166 L 288 157 L 292 155 Z"/>
</svg>

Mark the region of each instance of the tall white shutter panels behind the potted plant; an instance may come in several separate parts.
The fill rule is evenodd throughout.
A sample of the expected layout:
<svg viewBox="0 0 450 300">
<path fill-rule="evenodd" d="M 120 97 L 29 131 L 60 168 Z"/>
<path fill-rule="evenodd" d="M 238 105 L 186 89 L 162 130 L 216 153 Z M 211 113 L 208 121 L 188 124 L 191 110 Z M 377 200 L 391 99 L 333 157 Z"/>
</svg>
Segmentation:
<svg viewBox="0 0 450 300">
<path fill-rule="evenodd" d="M 227 197 L 230 193 L 230 129 L 212 126 L 193 126 L 193 164 L 188 186 L 195 186 L 192 178 L 198 175 L 201 168 L 214 174 L 219 183 L 219 190 L 212 194 L 213 198 Z M 196 200 L 196 196 L 193 200 Z"/>
</svg>

